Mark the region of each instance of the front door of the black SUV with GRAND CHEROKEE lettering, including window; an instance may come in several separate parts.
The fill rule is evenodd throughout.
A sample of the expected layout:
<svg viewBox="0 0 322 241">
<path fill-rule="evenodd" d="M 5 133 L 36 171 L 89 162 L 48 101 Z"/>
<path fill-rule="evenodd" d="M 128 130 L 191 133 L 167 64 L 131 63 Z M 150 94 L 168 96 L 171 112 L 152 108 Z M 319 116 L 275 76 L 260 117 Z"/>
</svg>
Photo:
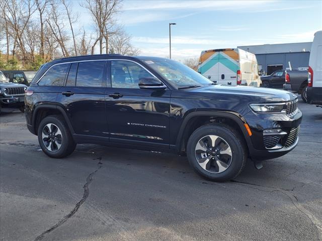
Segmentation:
<svg viewBox="0 0 322 241">
<path fill-rule="evenodd" d="M 106 110 L 110 141 L 169 148 L 170 90 L 140 89 L 139 79 L 152 77 L 128 60 L 110 62 L 111 88 Z"/>
</svg>

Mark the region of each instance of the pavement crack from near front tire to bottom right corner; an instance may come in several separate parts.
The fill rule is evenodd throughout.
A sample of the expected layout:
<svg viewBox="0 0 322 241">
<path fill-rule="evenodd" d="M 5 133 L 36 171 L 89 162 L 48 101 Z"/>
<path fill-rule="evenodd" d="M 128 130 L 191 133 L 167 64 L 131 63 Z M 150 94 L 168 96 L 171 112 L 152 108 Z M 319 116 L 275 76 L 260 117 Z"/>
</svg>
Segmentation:
<svg viewBox="0 0 322 241">
<path fill-rule="evenodd" d="M 320 220 L 318 220 L 310 211 L 308 211 L 307 209 L 305 209 L 299 202 L 298 199 L 295 195 L 293 195 L 292 193 L 290 193 L 290 191 L 293 191 L 294 188 L 290 189 L 283 189 L 283 188 L 278 188 L 278 187 L 270 187 L 270 186 L 264 186 L 264 185 L 260 185 L 260 184 L 254 184 L 254 183 L 248 183 L 248 182 L 241 182 L 241 181 L 236 181 L 236 180 L 231 180 L 230 182 L 236 183 L 238 185 L 242 185 L 245 187 L 250 187 L 263 191 L 263 192 L 281 192 L 284 195 L 286 195 L 289 199 L 291 199 L 293 205 L 296 207 L 297 210 L 299 210 L 300 212 L 302 212 L 305 216 L 308 217 L 308 219 L 313 223 L 313 225 L 316 227 L 317 229 L 317 236 L 318 236 L 318 240 L 322 241 L 322 222 Z M 247 185 L 244 185 L 247 184 Z M 248 186 L 250 185 L 250 186 Z M 274 189 L 272 191 L 267 191 L 267 190 L 263 190 L 260 188 L 256 188 L 256 187 L 252 187 L 252 186 L 258 186 L 258 187 L 264 187 L 264 188 L 271 188 Z M 304 185 L 303 185 L 304 186 Z"/>
</svg>

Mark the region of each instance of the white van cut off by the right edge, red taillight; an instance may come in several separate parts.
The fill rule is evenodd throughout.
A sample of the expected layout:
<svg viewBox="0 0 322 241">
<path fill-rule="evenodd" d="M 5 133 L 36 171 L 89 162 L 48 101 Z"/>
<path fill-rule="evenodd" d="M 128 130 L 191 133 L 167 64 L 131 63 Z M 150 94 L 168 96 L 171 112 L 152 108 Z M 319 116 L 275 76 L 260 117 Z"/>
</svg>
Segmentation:
<svg viewBox="0 0 322 241">
<path fill-rule="evenodd" d="M 307 103 L 322 104 L 322 31 L 314 34 L 307 73 Z"/>
</svg>

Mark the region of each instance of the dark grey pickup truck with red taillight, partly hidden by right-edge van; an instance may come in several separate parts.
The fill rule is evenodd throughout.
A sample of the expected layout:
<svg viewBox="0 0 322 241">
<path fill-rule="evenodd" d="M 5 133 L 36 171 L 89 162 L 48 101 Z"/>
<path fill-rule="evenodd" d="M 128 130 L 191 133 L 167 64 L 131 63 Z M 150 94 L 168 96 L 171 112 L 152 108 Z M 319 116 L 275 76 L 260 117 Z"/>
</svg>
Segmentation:
<svg viewBox="0 0 322 241">
<path fill-rule="evenodd" d="M 287 70 L 285 71 L 285 84 L 283 89 L 298 93 L 304 102 L 306 98 L 307 70 Z"/>
</svg>

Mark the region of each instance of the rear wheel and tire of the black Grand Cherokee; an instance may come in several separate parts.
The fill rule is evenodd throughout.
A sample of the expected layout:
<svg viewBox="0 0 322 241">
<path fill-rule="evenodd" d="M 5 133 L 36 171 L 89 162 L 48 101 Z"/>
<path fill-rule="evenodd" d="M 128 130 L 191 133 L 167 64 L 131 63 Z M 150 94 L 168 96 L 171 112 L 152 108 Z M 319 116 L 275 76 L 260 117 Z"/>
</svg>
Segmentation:
<svg viewBox="0 0 322 241">
<path fill-rule="evenodd" d="M 66 157 L 76 147 L 68 126 L 60 115 L 49 115 L 40 122 L 38 141 L 43 152 L 52 158 Z"/>
</svg>

